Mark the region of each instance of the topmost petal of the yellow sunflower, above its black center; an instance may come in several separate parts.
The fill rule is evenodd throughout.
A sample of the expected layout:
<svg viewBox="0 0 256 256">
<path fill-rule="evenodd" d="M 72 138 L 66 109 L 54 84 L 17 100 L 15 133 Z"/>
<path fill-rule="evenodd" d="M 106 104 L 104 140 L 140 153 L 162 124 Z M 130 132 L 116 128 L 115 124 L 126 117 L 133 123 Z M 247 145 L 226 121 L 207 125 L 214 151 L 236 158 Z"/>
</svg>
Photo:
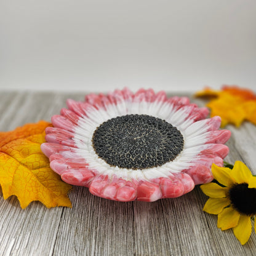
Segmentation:
<svg viewBox="0 0 256 256">
<path fill-rule="evenodd" d="M 252 178 L 252 173 L 250 169 L 241 161 L 236 161 L 231 172 L 232 177 L 236 183 L 249 183 L 250 178 Z"/>
</svg>

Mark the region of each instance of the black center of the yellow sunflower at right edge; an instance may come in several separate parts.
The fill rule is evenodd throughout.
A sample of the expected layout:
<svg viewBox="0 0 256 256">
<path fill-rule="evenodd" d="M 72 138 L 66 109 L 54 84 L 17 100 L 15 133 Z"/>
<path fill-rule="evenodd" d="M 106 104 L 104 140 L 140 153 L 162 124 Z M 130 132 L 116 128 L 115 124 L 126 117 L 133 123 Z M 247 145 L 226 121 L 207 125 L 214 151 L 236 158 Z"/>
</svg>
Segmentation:
<svg viewBox="0 0 256 256">
<path fill-rule="evenodd" d="M 228 192 L 231 204 L 241 214 L 256 214 L 256 189 L 248 188 L 247 183 L 234 184 Z"/>
</svg>

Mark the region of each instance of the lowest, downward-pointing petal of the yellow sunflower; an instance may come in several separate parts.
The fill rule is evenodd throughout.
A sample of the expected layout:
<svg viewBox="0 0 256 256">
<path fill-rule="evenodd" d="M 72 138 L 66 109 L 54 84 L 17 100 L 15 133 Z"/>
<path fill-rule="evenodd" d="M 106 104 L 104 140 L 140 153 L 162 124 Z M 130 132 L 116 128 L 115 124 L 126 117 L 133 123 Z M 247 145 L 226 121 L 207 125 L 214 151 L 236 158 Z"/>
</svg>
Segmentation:
<svg viewBox="0 0 256 256">
<path fill-rule="evenodd" d="M 250 217 L 241 215 L 238 225 L 233 228 L 233 232 L 241 244 L 245 244 L 252 233 L 252 223 L 250 221 Z"/>
</svg>

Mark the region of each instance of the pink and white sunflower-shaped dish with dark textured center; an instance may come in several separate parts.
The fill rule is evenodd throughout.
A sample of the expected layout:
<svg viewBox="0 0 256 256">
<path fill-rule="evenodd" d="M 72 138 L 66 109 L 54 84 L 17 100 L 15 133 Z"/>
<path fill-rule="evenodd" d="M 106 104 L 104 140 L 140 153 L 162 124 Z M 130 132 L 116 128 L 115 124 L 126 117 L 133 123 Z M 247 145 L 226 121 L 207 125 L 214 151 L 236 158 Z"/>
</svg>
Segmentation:
<svg viewBox="0 0 256 256">
<path fill-rule="evenodd" d="M 41 149 L 66 183 L 116 201 L 176 198 L 213 180 L 229 130 L 187 97 L 140 89 L 67 100 Z"/>
</svg>

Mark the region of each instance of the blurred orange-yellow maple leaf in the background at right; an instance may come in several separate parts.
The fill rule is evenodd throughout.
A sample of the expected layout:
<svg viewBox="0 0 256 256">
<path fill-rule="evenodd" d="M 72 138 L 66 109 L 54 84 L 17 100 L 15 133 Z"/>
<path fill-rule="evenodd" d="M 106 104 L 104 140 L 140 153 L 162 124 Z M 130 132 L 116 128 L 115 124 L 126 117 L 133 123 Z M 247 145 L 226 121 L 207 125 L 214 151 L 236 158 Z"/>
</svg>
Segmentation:
<svg viewBox="0 0 256 256">
<path fill-rule="evenodd" d="M 251 90 L 238 86 L 223 86 L 222 90 L 206 87 L 195 96 L 212 97 L 206 106 L 211 110 L 211 117 L 222 118 L 222 127 L 228 123 L 238 127 L 246 120 L 256 125 L 256 95 Z"/>
</svg>

